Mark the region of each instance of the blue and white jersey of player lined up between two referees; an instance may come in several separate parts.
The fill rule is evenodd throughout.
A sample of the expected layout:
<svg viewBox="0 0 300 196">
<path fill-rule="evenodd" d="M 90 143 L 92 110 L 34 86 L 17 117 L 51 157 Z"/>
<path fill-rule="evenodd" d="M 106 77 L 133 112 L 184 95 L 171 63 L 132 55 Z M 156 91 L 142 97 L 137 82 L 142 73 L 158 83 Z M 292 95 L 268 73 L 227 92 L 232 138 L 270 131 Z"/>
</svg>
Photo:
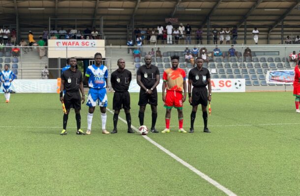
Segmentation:
<svg viewBox="0 0 300 196">
<path fill-rule="evenodd" d="M 101 65 L 97 67 L 90 65 L 87 69 L 86 76 L 89 77 L 89 87 L 94 89 L 106 88 L 105 79 L 108 77 L 107 67 Z"/>
</svg>

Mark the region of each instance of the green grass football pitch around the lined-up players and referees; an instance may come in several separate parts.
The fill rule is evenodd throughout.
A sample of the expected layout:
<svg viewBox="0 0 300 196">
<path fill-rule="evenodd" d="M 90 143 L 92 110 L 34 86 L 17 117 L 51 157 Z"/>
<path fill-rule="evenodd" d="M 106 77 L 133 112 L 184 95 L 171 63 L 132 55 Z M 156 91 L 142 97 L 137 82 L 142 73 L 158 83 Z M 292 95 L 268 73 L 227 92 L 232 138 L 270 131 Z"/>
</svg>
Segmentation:
<svg viewBox="0 0 300 196">
<path fill-rule="evenodd" d="M 112 93 L 108 108 L 112 108 Z M 156 127 L 165 126 L 158 95 Z M 214 93 L 211 133 L 203 133 L 198 110 L 195 133 L 179 133 L 173 109 L 171 133 L 148 136 L 238 196 L 295 196 L 300 193 L 300 114 L 292 92 Z M 139 126 L 138 94 L 131 93 L 132 125 Z M 0 94 L 0 196 L 225 196 L 138 134 L 101 134 L 99 108 L 91 135 L 76 135 L 74 111 L 60 136 L 58 94 Z M 81 110 L 87 127 L 88 106 Z M 185 102 L 184 128 L 191 106 Z M 107 112 L 107 129 L 113 115 Z M 125 119 L 124 112 L 120 117 Z M 145 125 L 150 128 L 150 106 Z"/>
</svg>

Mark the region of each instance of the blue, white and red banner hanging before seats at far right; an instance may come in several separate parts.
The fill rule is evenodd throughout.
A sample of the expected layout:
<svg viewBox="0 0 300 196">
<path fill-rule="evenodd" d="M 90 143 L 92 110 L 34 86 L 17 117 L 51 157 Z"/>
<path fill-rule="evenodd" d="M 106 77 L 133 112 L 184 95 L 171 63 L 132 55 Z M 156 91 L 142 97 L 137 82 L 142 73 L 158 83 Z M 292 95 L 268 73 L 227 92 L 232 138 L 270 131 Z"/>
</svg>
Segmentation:
<svg viewBox="0 0 300 196">
<path fill-rule="evenodd" d="M 294 70 L 275 70 L 267 72 L 266 81 L 273 84 L 293 84 L 294 77 Z"/>
</svg>

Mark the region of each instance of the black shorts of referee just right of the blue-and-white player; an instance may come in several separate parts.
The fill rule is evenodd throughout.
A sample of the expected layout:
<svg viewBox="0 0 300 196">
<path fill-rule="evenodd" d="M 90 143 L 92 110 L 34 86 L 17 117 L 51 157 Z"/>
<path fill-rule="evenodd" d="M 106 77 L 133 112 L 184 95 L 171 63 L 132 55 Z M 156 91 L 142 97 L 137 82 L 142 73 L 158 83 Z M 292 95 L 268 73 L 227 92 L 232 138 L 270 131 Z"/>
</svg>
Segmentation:
<svg viewBox="0 0 300 196">
<path fill-rule="evenodd" d="M 126 92 L 115 92 L 113 98 L 113 109 L 114 110 L 129 110 L 130 109 L 130 94 Z"/>
</svg>

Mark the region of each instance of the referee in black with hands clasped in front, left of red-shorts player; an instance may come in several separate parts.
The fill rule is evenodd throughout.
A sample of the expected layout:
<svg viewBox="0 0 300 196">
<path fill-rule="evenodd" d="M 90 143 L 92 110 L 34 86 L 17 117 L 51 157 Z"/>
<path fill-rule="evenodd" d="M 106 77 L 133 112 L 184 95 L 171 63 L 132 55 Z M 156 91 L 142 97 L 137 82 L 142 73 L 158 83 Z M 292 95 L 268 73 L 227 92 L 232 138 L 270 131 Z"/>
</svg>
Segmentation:
<svg viewBox="0 0 300 196">
<path fill-rule="evenodd" d="M 151 56 L 146 55 L 145 65 L 139 67 L 137 71 L 137 83 L 141 87 L 139 98 L 139 119 L 140 125 L 144 125 L 144 114 L 146 105 L 149 103 L 152 110 L 152 124 L 150 131 L 158 133 L 155 129 L 157 119 L 157 90 L 156 86 L 159 84 L 159 70 L 156 66 L 151 65 Z"/>
</svg>

